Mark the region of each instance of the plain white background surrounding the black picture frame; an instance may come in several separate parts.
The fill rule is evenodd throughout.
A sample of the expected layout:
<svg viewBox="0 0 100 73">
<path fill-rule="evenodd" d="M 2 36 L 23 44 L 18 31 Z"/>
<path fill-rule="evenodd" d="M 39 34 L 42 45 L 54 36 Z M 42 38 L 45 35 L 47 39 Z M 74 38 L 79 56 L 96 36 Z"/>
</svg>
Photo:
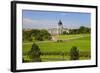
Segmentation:
<svg viewBox="0 0 100 73">
<path fill-rule="evenodd" d="M 11 0 L 0 0 L 0 73 L 11 73 L 10 72 L 10 1 Z M 33 1 L 98 5 L 100 7 L 99 5 L 100 3 L 98 2 L 100 0 L 33 0 Z M 100 18 L 98 18 L 98 20 L 99 19 Z M 98 25 L 98 28 L 100 31 L 100 25 Z M 99 33 L 99 37 L 100 37 L 100 33 Z M 100 40 L 100 38 L 98 38 L 98 40 Z M 98 43 L 100 43 L 100 41 Z M 99 52 L 98 55 L 100 56 L 99 48 L 98 48 L 98 52 Z M 99 57 L 99 61 L 100 61 L 100 57 Z M 34 73 L 99 73 L 99 72 L 100 72 L 100 67 L 38 71 Z M 29 73 L 33 73 L 33 72 L 29 72 Z"/>
</svg>

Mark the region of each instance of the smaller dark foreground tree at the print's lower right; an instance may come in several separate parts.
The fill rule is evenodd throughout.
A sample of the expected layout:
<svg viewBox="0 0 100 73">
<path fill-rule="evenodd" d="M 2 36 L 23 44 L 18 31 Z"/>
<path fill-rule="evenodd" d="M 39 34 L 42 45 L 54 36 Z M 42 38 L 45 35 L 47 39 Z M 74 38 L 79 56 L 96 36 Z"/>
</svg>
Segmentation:
<svg viewBox="0 0 100 73">
<path fill-rule="evenodd" d="M 73 46 L 70 50 L 70 60 L 78 60 L 79 59 L 79 50 L 76 46 Z"/>
</svg>

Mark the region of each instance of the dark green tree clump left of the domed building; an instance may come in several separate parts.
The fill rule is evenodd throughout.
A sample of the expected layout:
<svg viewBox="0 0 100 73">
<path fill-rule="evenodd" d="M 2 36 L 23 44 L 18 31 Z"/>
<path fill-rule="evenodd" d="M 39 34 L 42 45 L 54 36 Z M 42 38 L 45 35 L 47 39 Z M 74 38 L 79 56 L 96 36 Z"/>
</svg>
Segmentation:
<svg viewBox="0 0 100 73">
<path fill-rule="evenodd" d="M 23 30 L 23 41 L 33 41 L 33 37 L 35 40 L 43 41 L 43 40 L 50 40 L 51 35 L 48 33 L 47 30 Z"/>
</svg>

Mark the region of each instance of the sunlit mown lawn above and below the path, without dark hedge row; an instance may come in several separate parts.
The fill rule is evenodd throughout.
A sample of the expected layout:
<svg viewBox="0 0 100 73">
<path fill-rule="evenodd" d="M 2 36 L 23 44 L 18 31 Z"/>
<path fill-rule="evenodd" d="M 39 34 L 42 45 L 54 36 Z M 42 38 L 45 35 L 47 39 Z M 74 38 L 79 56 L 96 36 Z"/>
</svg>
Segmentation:
<svg viewBox="0 0 100 73">
<path fill-rule="evenodd" d="M 78 35 L 61 35 L 55 36 L 57 39 L 66 40 L 62 42 L 55 42 L 55 41 L 37 41 L 35 42 L 41 52 L 62 52 L 68 53 L 72 46 L 76 46 L 80 52 L 86 52 L 90 54 L 91 45 L 90 45 L 90 35 L 89 34 L 78 34 Z M 78 38 L 75 38 L 78 37 Z M 73 39 L 70 39 L 73 38 Z M 69 39 L 69 40 L 67 40 Z M 23 53 L 27 53 L 30 51 L 33 42 L 23 42 Z M 50 58 L 53 56 L 41 56 L 41 58 Z M 62 56 L 55 56 L 55 58 L 62 58 Z M 65 56 L 65 59 L 69 58 L 69 56 Z M 80 58 L 80 59 L 87 59 L 87 58 Z M 46 60 L 43 60 L 46 61 Z"/>
</svg>

